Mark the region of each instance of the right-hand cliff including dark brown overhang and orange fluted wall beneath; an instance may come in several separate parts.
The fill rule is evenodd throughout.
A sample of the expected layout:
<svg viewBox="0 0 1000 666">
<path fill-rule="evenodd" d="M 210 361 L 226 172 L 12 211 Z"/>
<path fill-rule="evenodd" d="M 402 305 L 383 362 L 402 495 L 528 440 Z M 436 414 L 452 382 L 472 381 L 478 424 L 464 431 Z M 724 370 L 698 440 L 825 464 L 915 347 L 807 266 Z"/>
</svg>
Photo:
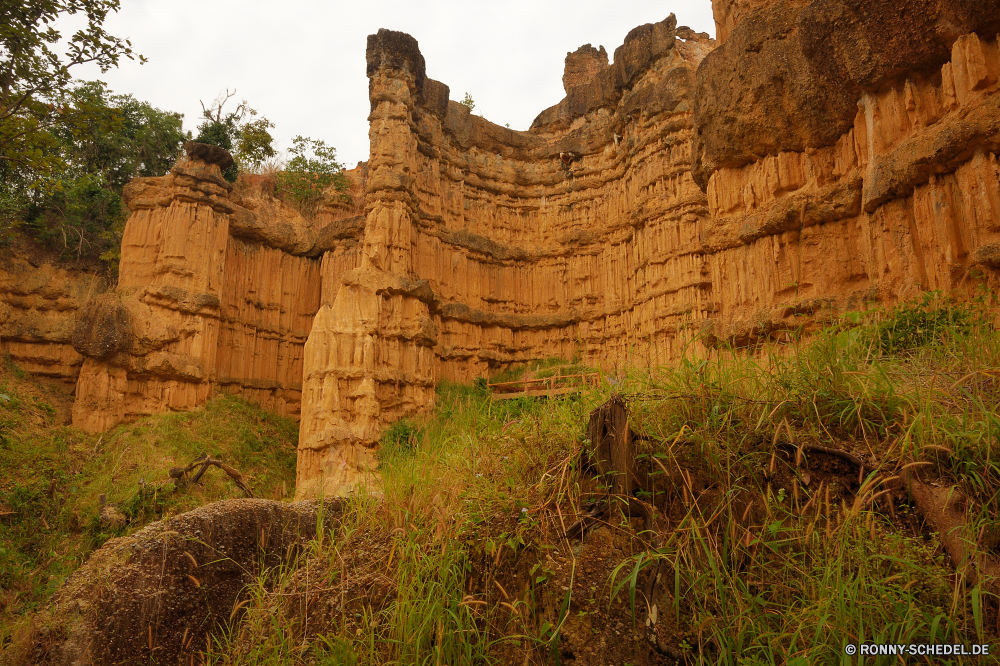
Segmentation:
<svg viewBox="0 0 1000 666">
<path fill-rule="evenodd" d="M 1000 286 L 1000 2 L 751 4 L 695 95 L 714 334 Z"/>
</svg>

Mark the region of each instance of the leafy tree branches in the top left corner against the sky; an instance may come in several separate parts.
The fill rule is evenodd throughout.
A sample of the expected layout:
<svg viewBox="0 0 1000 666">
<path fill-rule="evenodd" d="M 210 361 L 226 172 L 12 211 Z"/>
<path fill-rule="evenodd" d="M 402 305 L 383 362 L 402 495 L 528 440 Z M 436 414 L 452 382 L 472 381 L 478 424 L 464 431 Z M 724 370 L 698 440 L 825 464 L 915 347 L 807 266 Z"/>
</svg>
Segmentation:
<svg viewBox="0 0 1000 666">
<path fill-rule="evenodd" d="M 103 28 L 118 7 L 118 0 L 0 0 L 0 178 L 17 172 L 37 186 L 66 166 L 55 130 L 85 132 L 105 122 L 103 109 L 77 97 L 72 70 L 90 63 L 105 72 L 122 57 L 144 61 Z M 64 39 L 54 24 L 75 14 L 87 17 L 86 27 Z"/>
</svg>

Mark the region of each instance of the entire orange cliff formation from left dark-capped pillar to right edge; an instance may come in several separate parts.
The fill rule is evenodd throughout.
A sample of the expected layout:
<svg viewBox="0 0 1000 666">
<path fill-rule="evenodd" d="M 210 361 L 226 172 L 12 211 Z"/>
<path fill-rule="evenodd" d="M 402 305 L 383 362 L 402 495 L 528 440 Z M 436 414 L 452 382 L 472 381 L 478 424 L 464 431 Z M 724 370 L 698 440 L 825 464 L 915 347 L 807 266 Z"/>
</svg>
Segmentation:
<svg viewBox="0 0 1000 666">
<path fill-rule="evenodd" d="M 240 199 L 192 146 L 137 179 L 121 282 L 80 310 L 74 420 L 236 391 L 300 416 L 297 496 L 349 491 L 442 379 L 781 340 L 923 289 L 1000 287 L 1000 0 L 716 0 L 566 58 L 528 131 L 368 38 L 352 206 Z M 332 210 L 332 209 L 331 209 Z"/>
</svg>

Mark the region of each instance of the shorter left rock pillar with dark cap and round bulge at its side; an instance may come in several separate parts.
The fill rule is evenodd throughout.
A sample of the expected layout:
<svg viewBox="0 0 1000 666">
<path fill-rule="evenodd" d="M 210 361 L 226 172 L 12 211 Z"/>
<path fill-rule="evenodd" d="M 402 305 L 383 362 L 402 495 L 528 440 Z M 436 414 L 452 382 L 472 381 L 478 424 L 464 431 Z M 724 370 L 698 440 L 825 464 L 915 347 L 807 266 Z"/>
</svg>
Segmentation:
<svg viewBox="0 0 1000 666">
<path fill-rule="evenodd" d="M 125 188 L 132 210 L 119 285 L 77 317 L 73 346 L 86 357 L 73 424 L 107 430 L 140 414 L 191 409 L 211 393 L 219 337 L 232 157 L 189 142 L 168 176 Z"/>
</svg>

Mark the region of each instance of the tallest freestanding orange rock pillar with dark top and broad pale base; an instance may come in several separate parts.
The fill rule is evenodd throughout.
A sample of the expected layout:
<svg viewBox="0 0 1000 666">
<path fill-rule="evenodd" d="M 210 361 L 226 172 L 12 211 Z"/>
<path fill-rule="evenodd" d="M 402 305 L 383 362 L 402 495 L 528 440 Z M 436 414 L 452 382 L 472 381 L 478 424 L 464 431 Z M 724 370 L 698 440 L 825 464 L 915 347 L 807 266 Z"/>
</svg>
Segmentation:
<svg viewBox="0 0 1000 666">
<path fill-rule="evenodd" d="M 336 293 L 305 346 L 298 498 L 342 495 L 371 480 L 384 423 L 434 402 L 437 329 L 426 281 L 416 280 L 411 130 L 425 82 L 415 39 L 368 38 L 371 158 L 359 267 L 323 284 Z M 324 299 L 326 300 L 326 299 Z"/>
</svg>

